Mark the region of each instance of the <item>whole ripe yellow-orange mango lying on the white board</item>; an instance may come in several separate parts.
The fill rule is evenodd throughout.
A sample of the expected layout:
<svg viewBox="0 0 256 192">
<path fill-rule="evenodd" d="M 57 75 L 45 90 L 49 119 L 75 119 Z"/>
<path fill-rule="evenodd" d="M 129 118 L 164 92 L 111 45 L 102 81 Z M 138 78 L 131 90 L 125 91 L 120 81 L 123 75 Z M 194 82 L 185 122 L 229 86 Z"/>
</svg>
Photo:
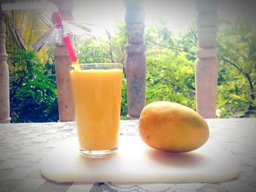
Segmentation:
<svg viewBox="0 0 256 192">
<path fill-rule="evenodd" d="M 150 147 L 183 153 L 203 146 L 209 137 L 206 120 L 184 105 L 156 101 L 143 108 L 138 131 Z"/>
</svg>

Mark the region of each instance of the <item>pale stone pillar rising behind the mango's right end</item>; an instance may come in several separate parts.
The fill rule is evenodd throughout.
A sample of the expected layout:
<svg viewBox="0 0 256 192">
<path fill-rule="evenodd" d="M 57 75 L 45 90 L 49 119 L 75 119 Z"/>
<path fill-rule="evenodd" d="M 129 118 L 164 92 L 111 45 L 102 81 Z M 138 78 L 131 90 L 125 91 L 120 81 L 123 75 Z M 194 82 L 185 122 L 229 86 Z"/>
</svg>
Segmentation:
<svg viewBox="0 0 256 192">
<path fill-rule="evenodd" d="M 217 1 L 197 0 L 197 50 L 195 93 L 197 112 L 203 118 L 216 117 L 217 105 Z"/>
</svg>

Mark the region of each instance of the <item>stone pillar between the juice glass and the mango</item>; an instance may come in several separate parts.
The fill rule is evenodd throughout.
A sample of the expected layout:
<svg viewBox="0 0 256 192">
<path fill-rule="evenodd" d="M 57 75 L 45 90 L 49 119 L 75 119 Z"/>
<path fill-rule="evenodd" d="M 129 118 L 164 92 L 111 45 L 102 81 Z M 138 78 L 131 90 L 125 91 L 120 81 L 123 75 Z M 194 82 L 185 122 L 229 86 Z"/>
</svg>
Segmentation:
<svg viewBox="0 0 256 192">
<path fill-rule="evenodd" d="M 127 97 L 129 119 L 140 117 L 146 104 L 146 56 L 144 45 L 143 0 L 124 0 L 126 6 L 125 22 L 127 29 Z"/>
</svg>

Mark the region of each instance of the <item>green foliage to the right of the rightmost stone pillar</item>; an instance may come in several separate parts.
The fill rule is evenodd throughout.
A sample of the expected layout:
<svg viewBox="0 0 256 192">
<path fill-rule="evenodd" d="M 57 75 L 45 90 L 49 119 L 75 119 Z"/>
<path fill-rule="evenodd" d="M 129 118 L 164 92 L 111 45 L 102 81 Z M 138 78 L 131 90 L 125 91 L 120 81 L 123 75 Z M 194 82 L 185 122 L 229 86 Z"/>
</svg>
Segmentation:
<svg viewBox="0 0 256 192">
<path fill-rule="evenodd" d="M 222 20 L 219 30 L 217 115 L 256 116 L 256 31 L 246 20 Z"/>
</svg>

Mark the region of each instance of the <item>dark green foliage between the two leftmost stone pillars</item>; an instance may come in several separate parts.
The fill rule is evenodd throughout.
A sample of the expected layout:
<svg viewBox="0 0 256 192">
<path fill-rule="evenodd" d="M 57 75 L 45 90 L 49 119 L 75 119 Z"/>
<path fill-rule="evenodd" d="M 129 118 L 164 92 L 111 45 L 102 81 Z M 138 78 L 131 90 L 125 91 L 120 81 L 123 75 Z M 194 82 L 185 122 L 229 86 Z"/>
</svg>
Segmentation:
<svg viewBox="0 0 256 192">
<path fill-rule="evenodd" d="M 13 53 L 10 64 L 10 110 L 12 122 L 57 121 L 55 69 L 43 66 L 37 55 L 20 51 Z"/>
</svg>

